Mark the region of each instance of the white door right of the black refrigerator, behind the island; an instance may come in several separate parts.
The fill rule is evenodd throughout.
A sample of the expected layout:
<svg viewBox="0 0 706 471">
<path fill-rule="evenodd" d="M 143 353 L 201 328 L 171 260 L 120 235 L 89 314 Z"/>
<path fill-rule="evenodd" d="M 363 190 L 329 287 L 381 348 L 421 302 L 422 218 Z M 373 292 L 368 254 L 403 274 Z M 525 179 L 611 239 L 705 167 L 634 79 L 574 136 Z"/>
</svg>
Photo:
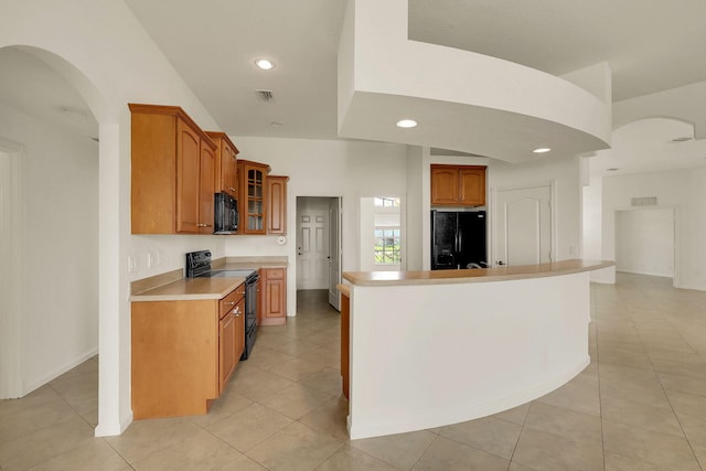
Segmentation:
<svg viewBox="0 0 706 471">
<path fill-rule="evenodd" d="M 552 261 L 553 232 L 552 186 L 498 192 L 494 265 Z"/>
</svg>

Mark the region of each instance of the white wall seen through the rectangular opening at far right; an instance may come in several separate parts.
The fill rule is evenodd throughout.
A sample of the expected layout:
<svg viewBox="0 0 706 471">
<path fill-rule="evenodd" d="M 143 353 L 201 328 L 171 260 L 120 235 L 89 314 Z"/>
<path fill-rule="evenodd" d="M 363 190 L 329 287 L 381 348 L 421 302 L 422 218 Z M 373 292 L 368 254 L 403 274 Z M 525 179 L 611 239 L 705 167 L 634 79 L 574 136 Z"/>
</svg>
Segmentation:
<svg viewBox="0 0 706 471">
<path fill-rule="evenodd" d="M 674 210 L 616 212 L 616 270 L 674 276 Z"/>
</svg>

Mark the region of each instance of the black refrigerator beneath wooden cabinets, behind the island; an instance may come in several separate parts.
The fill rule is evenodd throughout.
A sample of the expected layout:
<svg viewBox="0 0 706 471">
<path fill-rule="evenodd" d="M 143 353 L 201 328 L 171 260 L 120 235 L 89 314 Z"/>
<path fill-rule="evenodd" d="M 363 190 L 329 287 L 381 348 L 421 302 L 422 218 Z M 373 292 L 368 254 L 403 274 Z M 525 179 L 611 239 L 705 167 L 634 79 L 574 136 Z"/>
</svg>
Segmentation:
<svg viewBox="0 0 706 471">
<path fill-rule="evenodd" d="M 484 211 L 431 211 L 431 269 L 488 265 Z"/>
</svg>

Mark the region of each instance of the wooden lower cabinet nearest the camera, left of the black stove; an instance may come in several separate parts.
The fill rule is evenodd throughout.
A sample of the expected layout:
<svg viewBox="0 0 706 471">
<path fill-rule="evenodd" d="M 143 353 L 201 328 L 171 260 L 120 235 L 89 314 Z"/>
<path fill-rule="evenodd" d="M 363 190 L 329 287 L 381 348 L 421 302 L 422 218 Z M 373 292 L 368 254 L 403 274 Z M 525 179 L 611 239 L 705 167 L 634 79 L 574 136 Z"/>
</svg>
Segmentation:
<svg viewBox="0 0 706 471">
<path fill-rule="evenodd" d="M 131 304 L 132 415 L 202 415 L 237 366 L 245 341 L 238 287 L 223 299 Z"/>
</svg>

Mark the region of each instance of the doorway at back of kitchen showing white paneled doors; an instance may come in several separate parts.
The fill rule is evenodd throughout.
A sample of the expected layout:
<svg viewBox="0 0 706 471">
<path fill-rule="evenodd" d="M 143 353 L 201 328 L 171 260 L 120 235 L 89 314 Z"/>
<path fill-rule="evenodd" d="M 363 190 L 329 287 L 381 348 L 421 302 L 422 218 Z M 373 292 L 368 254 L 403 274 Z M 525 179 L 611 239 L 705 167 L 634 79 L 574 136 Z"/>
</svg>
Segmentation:
<svg viewBox="0 0 706 471">
<path fill-rule="evenodd" d="M 341 197 L 297 196 L 297 291 L 325 290 L 341 310 Z"/>
</svg>

